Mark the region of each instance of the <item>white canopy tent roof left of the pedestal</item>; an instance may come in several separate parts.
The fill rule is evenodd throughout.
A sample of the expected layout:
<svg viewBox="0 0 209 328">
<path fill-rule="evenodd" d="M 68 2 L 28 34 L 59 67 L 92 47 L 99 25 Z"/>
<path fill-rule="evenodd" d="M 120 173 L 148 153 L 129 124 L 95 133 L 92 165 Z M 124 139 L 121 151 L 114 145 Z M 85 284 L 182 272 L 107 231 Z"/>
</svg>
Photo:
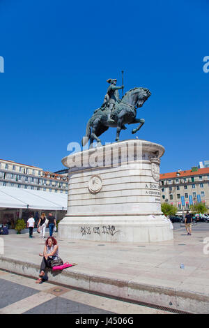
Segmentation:
<svg viewBox="0 0 209 328">
<path fill-rule="evenodd" d="M 67 210 L 68 195 L 0 186 L 0 208 Z"/>
</svg>

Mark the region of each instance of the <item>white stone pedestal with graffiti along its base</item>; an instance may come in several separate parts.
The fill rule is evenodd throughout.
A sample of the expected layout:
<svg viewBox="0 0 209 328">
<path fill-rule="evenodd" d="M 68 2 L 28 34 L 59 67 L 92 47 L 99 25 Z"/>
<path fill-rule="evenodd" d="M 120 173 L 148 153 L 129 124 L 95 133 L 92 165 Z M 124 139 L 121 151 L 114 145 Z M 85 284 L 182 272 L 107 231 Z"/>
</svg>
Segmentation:
<svg viewBox="0 0 209 328">
<path fill-rule="evenodd" d="M 69 167 L 68 211 L 59 237 L 148 242 L 173 239 L 160 204 L 164 148 L 126 140 L 63 158 Z"/>
</svg>

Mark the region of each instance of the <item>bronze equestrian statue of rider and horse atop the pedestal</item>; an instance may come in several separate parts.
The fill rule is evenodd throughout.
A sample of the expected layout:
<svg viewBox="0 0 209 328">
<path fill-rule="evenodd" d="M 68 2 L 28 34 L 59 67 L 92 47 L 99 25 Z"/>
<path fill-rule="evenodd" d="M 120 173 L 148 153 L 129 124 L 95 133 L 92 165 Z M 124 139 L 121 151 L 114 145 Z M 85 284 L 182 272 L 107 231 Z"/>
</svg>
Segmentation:
<svg viewBox="0 0 209 328">
<path fill-rule="evenodd" d="M 93 140 L 98 143 L 101 140 L 98 138 L 102 133 L 109 128 L 117 128 L 116 141 L 119 141 L 121 130 L 125 130 L 125 124 L 137 124 L 137 128 L 132 129 L 132 133 L 139 131 L 144 124 L 144 119 L 137 119 L 137 108 L 141 107 L 144 102 L 150 96 L 150 91 L 146 88 L 134 88 L 126 92 L 126 94 L 119 98 L 119 89 L 116 87 L 116 79 L 107 80 L 109 87 L 107 94 L 104 96 L 104 102 L 102 106 L 95 110 L 91 119 L 88 120 L 86 126 L 86 135 L 82 139 L 82 146 L 84 146 L 88 140 L 90 141 L 90 147 L 93 146 Z"/>
</svg>

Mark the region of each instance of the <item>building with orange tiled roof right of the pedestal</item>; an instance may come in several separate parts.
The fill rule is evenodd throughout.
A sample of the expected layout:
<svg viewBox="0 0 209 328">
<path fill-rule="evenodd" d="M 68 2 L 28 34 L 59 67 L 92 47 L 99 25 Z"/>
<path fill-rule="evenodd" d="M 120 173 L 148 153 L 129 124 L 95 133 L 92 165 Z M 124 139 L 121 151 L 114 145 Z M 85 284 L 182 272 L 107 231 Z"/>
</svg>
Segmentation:
<svg viewBox="0 0 209 328">
<path fill-rule="evenodd" d="M 161 202 L 189 209 L 191 204 L 203 202 L 209 209 L 209 167 L 160 174 Z"/>
</svg>

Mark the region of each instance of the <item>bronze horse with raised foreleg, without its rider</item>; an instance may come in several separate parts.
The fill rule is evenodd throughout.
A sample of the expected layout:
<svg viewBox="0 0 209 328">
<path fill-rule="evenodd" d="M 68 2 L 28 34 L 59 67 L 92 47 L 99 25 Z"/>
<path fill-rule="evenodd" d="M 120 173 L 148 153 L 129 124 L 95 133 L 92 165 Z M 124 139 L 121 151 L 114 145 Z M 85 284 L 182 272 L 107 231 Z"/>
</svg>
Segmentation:
<svg viewBox="0 0 209 328">
<path fill-rule="evenodd" d="M 91 119 L 88 120 L 86 136 L 82 139 L 82 146 L 88 140 L 90 140 L 90 147 L 93 144 L 93 140 L 101 142 L 98 137 L 107 131 L 109 127 L 117 128 L 116 141 L 119 141 L 121 129 L 126 129 L 125 124 L 140 123 L 137 128 L 132 129 L 132 133 L 139 131 L 139 128 L 144 124 L 144 119 L 136 118 L 137 108 L 144 104 L 150 94 L 150 91 L 145 88 L 134 88 L 127 91 L 111 112 L 111 119 L 114 120 L 114 123 L 107 122 L 107 110 L 102 110 L 101 108 L 96 110 Z"/>
</svg>

